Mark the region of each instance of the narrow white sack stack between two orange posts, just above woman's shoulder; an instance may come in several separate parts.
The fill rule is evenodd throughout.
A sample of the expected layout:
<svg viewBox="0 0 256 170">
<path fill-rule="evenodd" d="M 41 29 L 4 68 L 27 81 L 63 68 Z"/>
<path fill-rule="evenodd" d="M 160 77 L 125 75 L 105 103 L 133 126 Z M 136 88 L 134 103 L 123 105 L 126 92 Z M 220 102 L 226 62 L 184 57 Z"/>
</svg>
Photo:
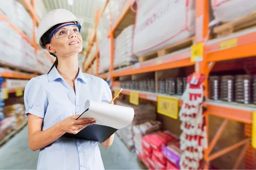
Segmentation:
<svg viewBox="0 0 256 170">
<path fill-rule="evenodd" d="M 99 74 L 108 71 L 110 68 L 110 38 L 102 40 L 99 46 Z"/>
</svg>

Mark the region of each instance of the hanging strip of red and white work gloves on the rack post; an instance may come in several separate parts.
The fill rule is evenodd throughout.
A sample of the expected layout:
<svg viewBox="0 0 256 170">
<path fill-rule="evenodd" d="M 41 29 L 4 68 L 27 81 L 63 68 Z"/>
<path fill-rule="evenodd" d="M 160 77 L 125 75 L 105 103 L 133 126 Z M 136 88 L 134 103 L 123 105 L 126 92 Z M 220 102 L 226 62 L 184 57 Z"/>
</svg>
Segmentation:
<svg viewBox="0 0 256 170">
<path fill-rule="evenodd" d="M 183 93 L 183 105 L 180 109 L 180 169 L 197 170 L 203 159 L 203 148 L 207 148 L 207 133 L 204 118 L 204 82 L 203 74 L 193 74 L 187 78 Z"/>
</svg>

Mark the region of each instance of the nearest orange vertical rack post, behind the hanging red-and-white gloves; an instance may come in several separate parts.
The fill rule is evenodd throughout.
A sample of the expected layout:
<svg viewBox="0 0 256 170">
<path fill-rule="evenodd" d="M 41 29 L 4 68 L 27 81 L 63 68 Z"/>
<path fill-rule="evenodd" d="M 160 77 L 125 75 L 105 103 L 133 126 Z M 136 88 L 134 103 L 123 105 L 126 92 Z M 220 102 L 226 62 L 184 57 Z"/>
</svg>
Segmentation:
<svg viewBox="0 0 256 170">
<path fill-rule="evenodd" d="M 196 0 L 196 34 L 195 34 L 195 43 L 203 43 L 203 56 L 200 59 L 200 62 L 195 62 L 195 70 L 198 73 L 204 74 L 206 79 L 204 80 L 204 96 L 208 98 L 208 76 L 209 69 L 208 63 L 206 62 L 206 55 L 204 53 L 204 42 L 207 41 L 207 35 L 209 32 L 209 0 Z M 207 111 L 205 112 L 206 120 L 206 131 L 207 131 L 207 142 L 209 139 L 209 117 Z M 204 149 L 204 160 L 206 165 L 204 169 L 209 169 L 209 153 L 208 148 Z"/>
</svg>

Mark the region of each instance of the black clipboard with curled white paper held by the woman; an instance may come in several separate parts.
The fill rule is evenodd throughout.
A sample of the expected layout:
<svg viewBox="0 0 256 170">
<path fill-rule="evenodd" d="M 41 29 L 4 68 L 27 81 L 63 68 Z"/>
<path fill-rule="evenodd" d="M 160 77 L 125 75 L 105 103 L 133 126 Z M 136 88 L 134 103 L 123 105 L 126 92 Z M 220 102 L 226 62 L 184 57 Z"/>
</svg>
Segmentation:
<svg viewBox="0 0 256 170">
<path fill-rule="evenodd" d="M 85 111 L 77 119 L 94 118 L 96 123 L 77 134 L 64 133 L 64 137 L 105 142 L 118 129 L 128 126 L 134 119 L 134 109 L 105 102 L 87 100 Z"/>
</svg>

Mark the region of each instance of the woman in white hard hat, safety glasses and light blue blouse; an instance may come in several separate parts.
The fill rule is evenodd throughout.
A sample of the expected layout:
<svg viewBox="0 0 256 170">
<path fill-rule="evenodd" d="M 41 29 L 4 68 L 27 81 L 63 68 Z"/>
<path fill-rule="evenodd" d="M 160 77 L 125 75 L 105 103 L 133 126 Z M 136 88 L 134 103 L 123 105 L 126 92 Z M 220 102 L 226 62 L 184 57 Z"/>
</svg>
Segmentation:
<svg viewBox="0 0 256 170">
<path fill-rule="evenodd" d="M 104 169 L 99 142 L 62 137 L 95 123 L 76 120 L 87 99 L 110 102 L 112 98 L 107 82 L 82 73 L 78 66 L 82 23 L 70 11 L 56 9 L 45 14 L 38 26 L 39 46 L 56 57 L 49 73 L 29 80 L 24 91 L 29 147 L 40 150 L 38 170 Z M 101 144 L 109 147 L 113 137 Z"/>
</svg>

